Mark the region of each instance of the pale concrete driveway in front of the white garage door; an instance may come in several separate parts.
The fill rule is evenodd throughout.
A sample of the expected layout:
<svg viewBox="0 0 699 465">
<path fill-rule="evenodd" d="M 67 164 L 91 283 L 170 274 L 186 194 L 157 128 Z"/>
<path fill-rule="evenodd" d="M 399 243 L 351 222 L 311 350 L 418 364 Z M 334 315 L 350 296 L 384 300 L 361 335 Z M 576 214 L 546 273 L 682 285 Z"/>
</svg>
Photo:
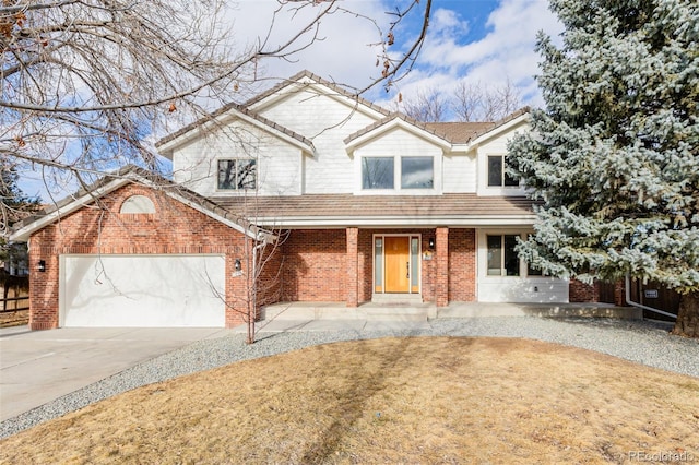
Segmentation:
<svg viewBox="0 0 699 465">
<path fill-rule="evenodd" d="M 224 329 L 0 329 L 0 421 Z"/>
</svg>

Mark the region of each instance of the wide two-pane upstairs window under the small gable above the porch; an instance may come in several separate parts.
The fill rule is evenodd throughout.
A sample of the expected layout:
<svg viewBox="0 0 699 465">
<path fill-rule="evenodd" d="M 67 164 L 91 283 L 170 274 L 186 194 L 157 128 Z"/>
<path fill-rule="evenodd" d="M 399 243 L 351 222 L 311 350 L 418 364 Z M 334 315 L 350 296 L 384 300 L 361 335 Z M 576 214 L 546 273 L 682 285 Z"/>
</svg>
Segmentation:
<svg viewBox="0 0 699 465">
<path fill-rule="evenodd" d="M 363 157 L 362 189 L 433 189 L 435 186 L 435 160 L 429 156 Z"/>
</svg>

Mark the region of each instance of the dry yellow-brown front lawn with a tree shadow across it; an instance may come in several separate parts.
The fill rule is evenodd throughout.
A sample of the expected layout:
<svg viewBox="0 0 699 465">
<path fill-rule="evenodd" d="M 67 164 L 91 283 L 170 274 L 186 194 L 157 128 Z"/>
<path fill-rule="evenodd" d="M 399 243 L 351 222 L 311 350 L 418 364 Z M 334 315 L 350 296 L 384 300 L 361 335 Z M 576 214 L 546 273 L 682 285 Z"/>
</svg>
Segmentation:
<svg viewBox="0 0 699 465">
<path fill-rule="evenodd" d="M 0 463 L 699 461 L 699 379 L 525 339 L 346 342 L 152 384 Z"/>
</svg>

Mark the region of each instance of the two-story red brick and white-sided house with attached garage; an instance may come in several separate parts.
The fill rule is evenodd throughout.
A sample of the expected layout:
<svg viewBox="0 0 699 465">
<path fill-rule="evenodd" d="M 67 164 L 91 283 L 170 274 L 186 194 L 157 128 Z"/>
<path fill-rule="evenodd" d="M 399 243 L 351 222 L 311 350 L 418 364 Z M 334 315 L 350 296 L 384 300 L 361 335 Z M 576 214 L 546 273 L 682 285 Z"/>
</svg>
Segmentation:
<svg viewBox="0 0 699 465">
<path fill-rule="evenodd" d="M 535 216 L 507 142 L 526 130 L 526 109 L 420 123 L 299 73 L 159 141 L 171 182 L 128 170 L 21 225 L 31 325 L 239 324 L 269 243 L 262 303 L 579 301 L 514 250 Z"/>
</svg>

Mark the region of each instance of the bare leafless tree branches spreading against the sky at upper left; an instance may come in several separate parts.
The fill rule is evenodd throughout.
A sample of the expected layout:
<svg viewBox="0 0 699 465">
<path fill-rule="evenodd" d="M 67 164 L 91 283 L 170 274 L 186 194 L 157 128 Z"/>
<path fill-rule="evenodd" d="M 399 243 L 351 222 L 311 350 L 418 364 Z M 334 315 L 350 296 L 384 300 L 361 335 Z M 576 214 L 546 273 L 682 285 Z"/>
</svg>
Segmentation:
<svg viewBox="0 0 699 465">
<path fill-rule="evenodd" d="M 265 34 L 242 48 L 223 23 L 227 3 L 0 1 L 0 154 L 67 186 L 80 183 L 78 174 L 98 176 L 128 164 L 162 172 L 153 140 L 251 94 L 266 79 L 260 63 L 294 61 L 323 40 L 321 25 L 330 16 L 352 15 L 377 28 L 374 46 L 389 68 L 350 91 L 358 96 L 410 71 L 431 8 L 431 1 L 413 0 L 390 12 L 384 34 L 351 2 L 279 0 Z M 275 22 L 289 11 L 296 29 L 279 40 Z M 416 14 L 423 16 L 417 39 L 400 40 L 396 26 Z"/>
</svg>

